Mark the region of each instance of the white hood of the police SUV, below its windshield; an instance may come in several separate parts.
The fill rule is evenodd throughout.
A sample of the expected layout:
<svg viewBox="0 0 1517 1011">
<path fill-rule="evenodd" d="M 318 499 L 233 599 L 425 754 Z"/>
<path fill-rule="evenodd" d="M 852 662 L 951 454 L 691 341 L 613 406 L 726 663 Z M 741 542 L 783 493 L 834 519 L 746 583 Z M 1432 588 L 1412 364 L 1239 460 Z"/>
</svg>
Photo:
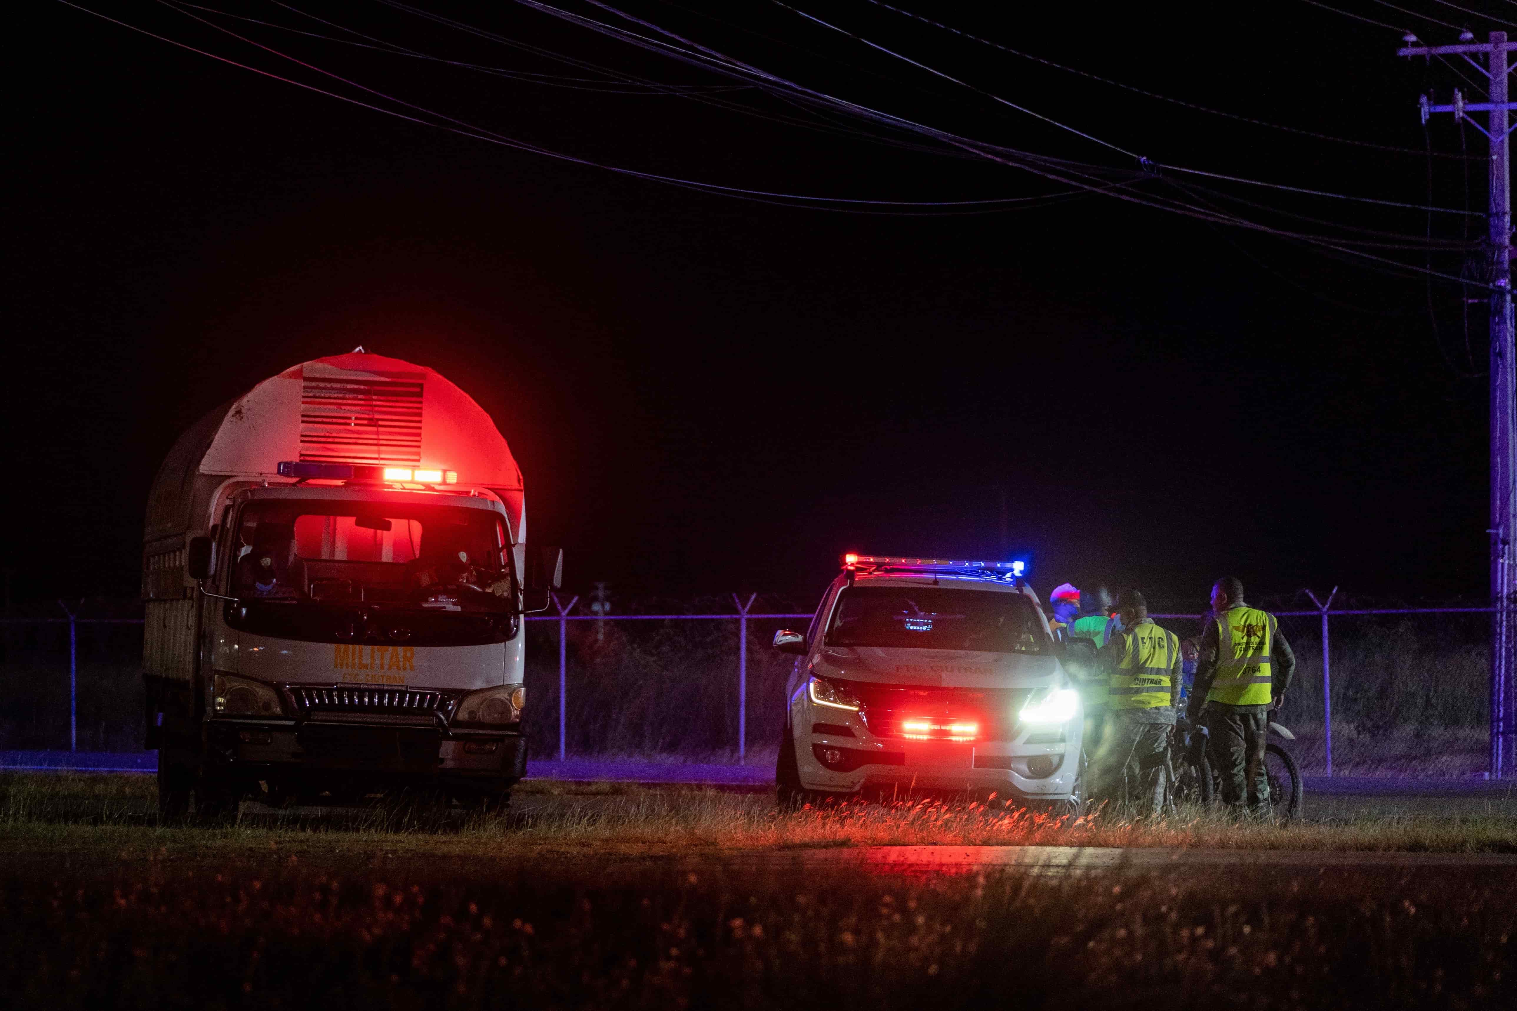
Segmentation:
<svg viewBox="0 0 1517 1011">
<path fill-rule="evenodd" d="M 880 646 L 825 646 L 812 664 L 812 670 L 824 678 L 938 688 L 1036 687 L 1063 673 L 1059 658 L 1048 655 Z"/>
</svg>

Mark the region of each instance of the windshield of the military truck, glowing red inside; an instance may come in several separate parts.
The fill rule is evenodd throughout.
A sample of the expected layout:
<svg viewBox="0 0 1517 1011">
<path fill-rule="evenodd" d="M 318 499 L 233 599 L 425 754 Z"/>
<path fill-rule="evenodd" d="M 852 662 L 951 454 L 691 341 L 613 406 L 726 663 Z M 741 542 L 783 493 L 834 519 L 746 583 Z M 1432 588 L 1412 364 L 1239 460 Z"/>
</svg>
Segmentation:
<svg viewBox="0 0 1517 1011">
<path fill-rule="evenodd" d="M 505 527 L 485 509 L 262 500 L 243 508 L 234 537 L 232 593 L 243 599 L 514 606 Z"/>
</svg>

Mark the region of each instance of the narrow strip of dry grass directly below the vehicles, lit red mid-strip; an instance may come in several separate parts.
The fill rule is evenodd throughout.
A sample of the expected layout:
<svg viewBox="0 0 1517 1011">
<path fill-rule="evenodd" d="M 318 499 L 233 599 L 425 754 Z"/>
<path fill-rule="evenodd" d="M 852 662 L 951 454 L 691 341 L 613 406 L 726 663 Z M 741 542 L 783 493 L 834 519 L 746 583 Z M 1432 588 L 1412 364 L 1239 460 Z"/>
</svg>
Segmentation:
<svg viewBox="0 0 1517 1011">
<path fill-rule="evenodd" d="M 784 815 L 769 794 L 539 787 L 502 814 L 387 803 L 332 812 L 258 814 L 223 828 L 153 825 L 153 784 L 123 776 L 0 779 L 0 852 L 238 852 L 270 844 L 416 855 L 699 853 L 836 846 L 1120 846 L 1270 850 L 1517 852 L 1517 819 L 1355 819 L 1289 826 L 1235 823 L 1215 812 L 1133 822 L 1104 814 L 1050 817 L 1004 802 L 939 799 L 828 803 Z M 549 793 L 549 790 L 552 790 Z"/>
</svg>

